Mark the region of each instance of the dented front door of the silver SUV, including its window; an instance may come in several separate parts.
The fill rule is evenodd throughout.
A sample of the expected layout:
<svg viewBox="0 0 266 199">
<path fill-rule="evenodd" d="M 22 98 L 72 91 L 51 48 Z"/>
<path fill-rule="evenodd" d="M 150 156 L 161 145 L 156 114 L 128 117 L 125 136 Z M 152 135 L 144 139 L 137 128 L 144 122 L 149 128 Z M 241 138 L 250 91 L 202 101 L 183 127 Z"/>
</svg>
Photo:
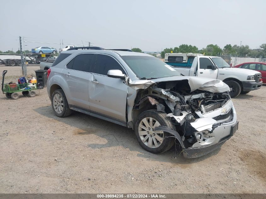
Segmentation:
<svg viewBox="0 0 266 199">
<path fill-rule="evenodd" d="M 107 76 L 108 70 L 112 69 L 126 74 L 114 57 L 98 54 L 89 82 L 90 110 L 125 122 L 127 85 L 121 79 Z"/>
</svg>

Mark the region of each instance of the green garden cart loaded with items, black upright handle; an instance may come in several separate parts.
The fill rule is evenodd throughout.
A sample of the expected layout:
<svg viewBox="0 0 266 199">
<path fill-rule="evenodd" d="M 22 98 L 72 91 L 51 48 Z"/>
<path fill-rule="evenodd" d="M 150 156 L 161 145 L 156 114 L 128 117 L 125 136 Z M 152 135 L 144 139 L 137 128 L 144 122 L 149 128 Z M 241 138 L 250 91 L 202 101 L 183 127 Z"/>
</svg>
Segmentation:
<svg viewBox="0 0 266 199">
<path fill-rule="evenodd" d="M 8 84 L 4 84 L 4 78 L 6 73 L 7 70 L 4 70 L 2 80 L 2 92 L 3 94 L 6 94 L 7 98 L 18 99 L 20 97 L 18 92 L 22 92 L 22 95 L 24 96 L 34 97 L 36 95 L 36 92 L 34 90 L 43 88 L 42 82 L 24 84 L 16 84 L 13 82 L 9 82 Z"/>
</svg>

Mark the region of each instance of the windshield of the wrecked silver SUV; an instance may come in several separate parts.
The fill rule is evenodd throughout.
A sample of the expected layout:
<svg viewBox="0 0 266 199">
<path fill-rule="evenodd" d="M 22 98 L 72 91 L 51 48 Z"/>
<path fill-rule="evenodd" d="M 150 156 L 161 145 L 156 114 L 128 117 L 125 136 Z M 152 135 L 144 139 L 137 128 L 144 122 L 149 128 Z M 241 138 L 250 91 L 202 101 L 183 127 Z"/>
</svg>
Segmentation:
<svg viewBox="0 0 266 199">
<path fill-rule="evenodd" d="M 181 76 L 179 72 L 158 58 L 150 56 L 121 56 L 139 79 Z"/>
</svg>

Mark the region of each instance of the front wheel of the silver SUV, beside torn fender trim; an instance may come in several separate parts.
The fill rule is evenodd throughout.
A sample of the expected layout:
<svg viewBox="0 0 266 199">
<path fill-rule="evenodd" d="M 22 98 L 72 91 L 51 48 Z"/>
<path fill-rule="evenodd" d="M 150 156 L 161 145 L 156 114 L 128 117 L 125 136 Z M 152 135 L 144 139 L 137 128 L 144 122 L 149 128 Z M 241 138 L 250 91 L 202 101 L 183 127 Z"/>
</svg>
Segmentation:
<svg viewBox="0 0 266 199">
<path fill-rule="evenodd" d="M 139 114 L 135 124 L 135 134 L 139 145 L 151 153 L 163 153 L 174 144 L 174 138 L 168 132 L 154 131 L 156 126 L 166 126 L 175 130 L 175 126 L 164 112 L 147 110 Z"/>
</svg>

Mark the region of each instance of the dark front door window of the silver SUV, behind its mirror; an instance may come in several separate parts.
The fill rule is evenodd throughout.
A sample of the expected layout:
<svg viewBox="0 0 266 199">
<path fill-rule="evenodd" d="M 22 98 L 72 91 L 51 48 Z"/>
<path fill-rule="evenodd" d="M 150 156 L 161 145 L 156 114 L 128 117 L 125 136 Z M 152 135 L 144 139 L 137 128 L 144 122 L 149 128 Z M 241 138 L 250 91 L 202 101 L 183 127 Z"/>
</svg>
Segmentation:
<svg viewBox="0 0 266 199">
<path fill-rule="evenodd" d="M 108 70 L 121 70 L 125 74 L 124 69 L 118 64 L 118 62 L 107 55 L 97 55 L 94 73 L 107 75 Z"/>
</svg>

